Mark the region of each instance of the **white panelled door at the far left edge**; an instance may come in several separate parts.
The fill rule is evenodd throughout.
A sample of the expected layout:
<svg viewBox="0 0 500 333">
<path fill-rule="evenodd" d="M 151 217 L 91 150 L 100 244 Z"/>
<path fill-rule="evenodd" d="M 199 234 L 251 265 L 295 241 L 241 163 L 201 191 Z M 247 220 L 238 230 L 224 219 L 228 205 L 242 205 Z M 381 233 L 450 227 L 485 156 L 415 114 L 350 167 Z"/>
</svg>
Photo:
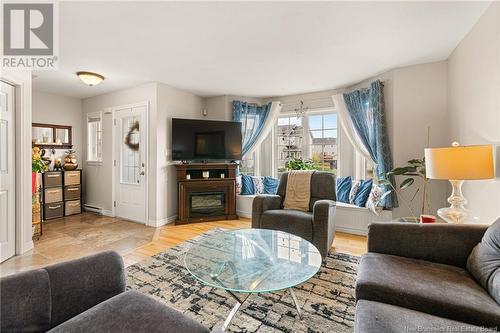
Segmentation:
<svg viewBox="0 0 500 333">
<path fill-rule="evenodd" d="M 0 262 L 16 252 L 15 90 L 0 81 Z"/>
</svg>

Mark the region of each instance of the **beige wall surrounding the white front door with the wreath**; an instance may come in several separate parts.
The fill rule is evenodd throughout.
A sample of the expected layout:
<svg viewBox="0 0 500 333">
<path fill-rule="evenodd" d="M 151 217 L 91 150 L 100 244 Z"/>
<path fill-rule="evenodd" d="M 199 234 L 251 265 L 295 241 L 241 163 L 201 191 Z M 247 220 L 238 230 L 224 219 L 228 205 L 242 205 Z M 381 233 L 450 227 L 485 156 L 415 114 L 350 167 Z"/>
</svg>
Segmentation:
<svg viewBox="0 0 500 333">
<path fill-rule="evenodd" d="M 83 101 L 87 113 L 139 102 L 149 102 L 149 161 L 148 161 L 148 224 L 161 225 L 174 220 L 177 214 L 175 168 L 171 161 L 172 118 L 204 118 L 204 99 L 162 83 L 149 83 Z M 216 119 L 213 115 L 206 118 Z M 85 121 L 85 119 L 84 119 Z M 85 165 L 85 202 L 112 210 L 112 114 L 103 113 L 103 161 L 100 165 Z"/>
</svg>

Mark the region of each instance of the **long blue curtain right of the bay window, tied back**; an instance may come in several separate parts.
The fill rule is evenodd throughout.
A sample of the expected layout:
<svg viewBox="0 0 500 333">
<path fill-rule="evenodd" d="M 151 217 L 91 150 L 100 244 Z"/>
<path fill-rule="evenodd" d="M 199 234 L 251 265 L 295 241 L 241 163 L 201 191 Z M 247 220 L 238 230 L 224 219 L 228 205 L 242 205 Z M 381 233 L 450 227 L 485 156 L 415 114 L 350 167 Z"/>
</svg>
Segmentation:
<svg viewBox="0 0 500 333">
<path fill-rule="evenodd" d="M 344 100 L 356 132 L 376 163 L 378 177 L 385 179 L 386 172 L 393 168 L 393 164 L 387 136 L 382 82 L 377 80 L 368 89 L 345 93 Z M 388 180 L 395 185 L 393 176 Z M 385 197 L 382 205 L 386 208 L 398 207 L 398 199 L 391 193 Z"/>
</svg>

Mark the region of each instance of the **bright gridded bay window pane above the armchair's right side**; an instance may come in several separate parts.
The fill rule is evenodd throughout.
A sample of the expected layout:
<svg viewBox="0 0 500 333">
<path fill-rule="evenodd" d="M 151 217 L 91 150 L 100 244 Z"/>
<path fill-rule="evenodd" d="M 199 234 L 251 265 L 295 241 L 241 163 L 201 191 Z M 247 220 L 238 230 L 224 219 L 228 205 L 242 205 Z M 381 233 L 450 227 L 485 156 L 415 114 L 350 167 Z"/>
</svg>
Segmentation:
<svg viewBox="0 0 500 333">
<path fill-rule="evenodd" d="M 314 162 L 314 169 L 337 171 L 337 115 L 309 115 L 309 158 Z"/>
</svg>

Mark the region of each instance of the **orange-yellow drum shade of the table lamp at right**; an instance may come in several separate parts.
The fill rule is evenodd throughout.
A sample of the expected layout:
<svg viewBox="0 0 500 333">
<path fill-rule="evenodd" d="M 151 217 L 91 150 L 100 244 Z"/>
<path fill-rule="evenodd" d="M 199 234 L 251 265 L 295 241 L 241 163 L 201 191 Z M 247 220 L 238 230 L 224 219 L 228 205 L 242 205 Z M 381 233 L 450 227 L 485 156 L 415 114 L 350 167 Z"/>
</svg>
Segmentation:
<svg viewBox="0 0 500 333">
<path fill-rule="evenodd" d="M 494 177 L 493 147 L 457 146 L 425 149 L 425 171 L 430 179 L 490 179 Z"/>
</svg>

